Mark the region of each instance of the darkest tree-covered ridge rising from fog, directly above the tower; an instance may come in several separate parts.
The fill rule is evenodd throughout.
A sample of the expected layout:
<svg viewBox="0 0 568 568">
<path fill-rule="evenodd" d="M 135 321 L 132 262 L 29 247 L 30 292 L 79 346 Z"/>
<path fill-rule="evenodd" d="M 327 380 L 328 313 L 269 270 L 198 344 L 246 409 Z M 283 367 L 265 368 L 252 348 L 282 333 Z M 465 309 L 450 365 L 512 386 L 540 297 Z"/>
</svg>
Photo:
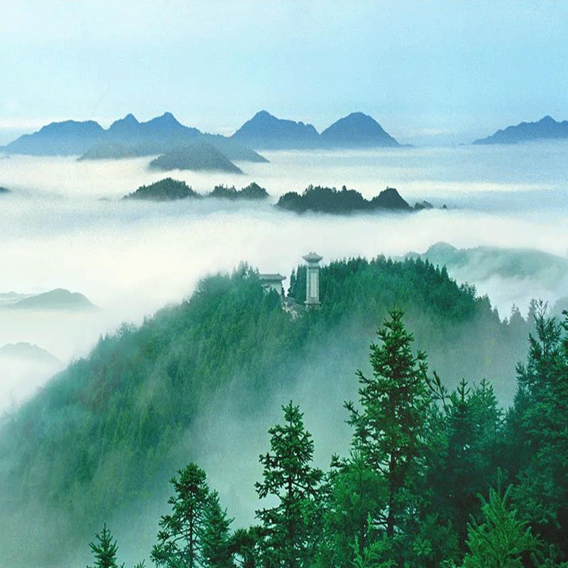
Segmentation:
<svg viewBox="0 0 568 568">
<path fill-rule="evenodd" d="M 392 209 L 395 211 L 411 211 L 410 205 L 400 197 L 394 187 L 387 187 L 371 201 L 366 200 L 359 192 L 348 190 L 345 186 L 341 191 L 330 187 L 314 187 L 310 185 L 302 195 L 296 192 L 285 193 L 276 204 L 280 209 L 288 209 L 303 213 L 306 211 L 346 214 L 363 211 Z"/>
</svg>

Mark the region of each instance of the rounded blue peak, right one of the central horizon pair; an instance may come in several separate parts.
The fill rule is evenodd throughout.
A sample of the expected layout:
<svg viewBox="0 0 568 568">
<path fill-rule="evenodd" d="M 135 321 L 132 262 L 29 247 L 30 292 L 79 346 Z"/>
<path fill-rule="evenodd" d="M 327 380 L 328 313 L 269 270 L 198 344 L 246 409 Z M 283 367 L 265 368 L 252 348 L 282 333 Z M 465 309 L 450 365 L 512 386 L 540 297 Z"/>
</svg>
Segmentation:
<svg viewBox="0 0 568 568">
<path fill-rule="evenodd" d="M 320 134 L 324 146 L 336 148 L 367 148 L 399 146 L 378 122 L 362 112 L 353 112 L 334 122 Z"/>
</svg>

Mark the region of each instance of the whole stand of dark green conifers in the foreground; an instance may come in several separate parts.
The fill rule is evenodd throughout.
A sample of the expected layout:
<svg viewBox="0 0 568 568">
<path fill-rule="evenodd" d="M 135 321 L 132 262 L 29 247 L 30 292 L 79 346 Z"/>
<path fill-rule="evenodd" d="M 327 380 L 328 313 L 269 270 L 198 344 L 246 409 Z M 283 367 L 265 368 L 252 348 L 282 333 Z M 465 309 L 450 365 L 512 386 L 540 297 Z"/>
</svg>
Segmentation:
<svg viewBox="0 0 568 568">
<path fill-rule="evenodd" d="M 344 403 L 349 454 L 313 466 L 314 442 L 290 401 L 259 456 L 257 524 L 231 531 L 195 463 L 170 479 L 172 513 L 158 523 L 158 567 L 565 568 L 568 312 L 535 314 L 526 364 L 506 415 L 491 384 L 449 393 L 393 308 L 358 370 L 359 403 Z M 550 480 L 554 480 L 551 485 Z M 266 498 L 271 501 L 266 506 Z M 118 568 L 104 525 L 97 559 Z M 104 547 L 103 545 L 106 545 Z M 140 564 L 137 565 L 138 567 Z"/>
</svg>

